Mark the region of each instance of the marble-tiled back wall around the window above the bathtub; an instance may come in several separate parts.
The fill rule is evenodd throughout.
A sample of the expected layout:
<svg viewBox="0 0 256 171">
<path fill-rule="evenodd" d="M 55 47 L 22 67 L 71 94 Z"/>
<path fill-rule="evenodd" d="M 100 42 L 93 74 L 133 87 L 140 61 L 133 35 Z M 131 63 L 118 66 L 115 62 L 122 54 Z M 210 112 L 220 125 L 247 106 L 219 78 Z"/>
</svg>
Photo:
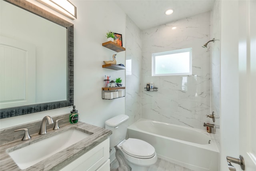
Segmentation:
<svg viewBox="0 0 256 171">
<path fill-rule="evenodd" d="M 202 45 L 211 38 L 210 20 L 209 11 L 142 31 L 142 118 L 206 129 L 210 48 Z M 184 48 L 192 48 L 192 75 L 152 77 L 152 53 Z M 149 82 L 154 82 L 157 92 L 144 91 Z"/>
</svg>

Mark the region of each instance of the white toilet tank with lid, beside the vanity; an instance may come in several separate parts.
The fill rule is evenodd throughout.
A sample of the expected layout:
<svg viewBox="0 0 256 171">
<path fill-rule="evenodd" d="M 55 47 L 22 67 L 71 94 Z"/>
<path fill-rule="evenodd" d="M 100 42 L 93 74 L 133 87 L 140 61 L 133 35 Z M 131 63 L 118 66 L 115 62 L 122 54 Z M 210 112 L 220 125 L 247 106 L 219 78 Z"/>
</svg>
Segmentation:
<svg viewBox="0 0 256 171">
<path fill-rule="evenodd" d="M 112 131 L 110 135 L 110 147 L 115 147 L 126 137 L 128 123 L 127 115 L 117 115 L 105 121 L 105 128 Z"/>
</svg>

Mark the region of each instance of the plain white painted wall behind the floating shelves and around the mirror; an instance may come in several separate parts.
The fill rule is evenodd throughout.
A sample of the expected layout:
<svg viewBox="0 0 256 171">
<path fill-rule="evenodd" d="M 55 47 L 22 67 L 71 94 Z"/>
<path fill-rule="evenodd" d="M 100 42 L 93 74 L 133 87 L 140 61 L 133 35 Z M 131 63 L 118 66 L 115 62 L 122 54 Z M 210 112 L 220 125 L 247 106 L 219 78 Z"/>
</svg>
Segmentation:
<svg viewBox="0 0 256 171">
<path fill-rule="evenodd" d="M 103 100 L 101 88 L 104 75 L 111 79 L 121 77 L 125 86 L 125 71 L 102 68 L 104 60 L 116 55 L 118 64 L 125 64 L 125 52 L 114 52 L 102 46 L 108 30 L 120 33 L 125 45 L 126 14 L 113 1 L 71 0 L 77 7 L 77 19 L 56 15 L 74 24 L 74 104 L 80 113 L 80 121 L 104 127 L 105 120 L 125 112 L 125 98 Z M 36 3 L 36 2 L 35 2 Z M 115 10 L 109 10 L 115 9 Z M 52 10 L 49 10 L 52 11 Z M 69 113 L 64 107 L 17 117 L 0 119 L 1 129 L 42 119 L 45 115 Z"/>
</svg>

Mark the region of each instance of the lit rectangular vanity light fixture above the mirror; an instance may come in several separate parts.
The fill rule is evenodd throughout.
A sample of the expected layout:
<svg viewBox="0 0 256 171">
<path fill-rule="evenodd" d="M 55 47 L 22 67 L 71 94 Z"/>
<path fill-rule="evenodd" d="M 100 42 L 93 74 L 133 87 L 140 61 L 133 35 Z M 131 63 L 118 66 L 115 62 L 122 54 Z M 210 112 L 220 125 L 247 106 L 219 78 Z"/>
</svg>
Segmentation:
<svg viewBox="0 0 256 171">
<path fill-rule="evenodd" d="M 36 0 L 41 4 L 52 8 L 53 10 L 71 18 L 76 19 L 76 6 L 74 6 L 69 0 Z"/>
</svg>

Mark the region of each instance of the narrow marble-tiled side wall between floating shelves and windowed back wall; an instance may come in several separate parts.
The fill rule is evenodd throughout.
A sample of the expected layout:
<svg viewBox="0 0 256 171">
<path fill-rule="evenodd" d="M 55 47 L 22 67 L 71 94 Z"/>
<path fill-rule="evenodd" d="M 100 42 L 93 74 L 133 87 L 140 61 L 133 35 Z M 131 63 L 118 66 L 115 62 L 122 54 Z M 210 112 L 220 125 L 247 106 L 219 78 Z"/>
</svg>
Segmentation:
<svg viewBox="0 0 256 171">
<path fill-rule="evenodd" d="M 129 125 L 141 118 L 141 30 L 126 16 L 126 60 L 131 60 L 131 73 L 126 72 L 125 113 Z M 128 68 L 126 62 L 126 71 Z"/>
</svg>

